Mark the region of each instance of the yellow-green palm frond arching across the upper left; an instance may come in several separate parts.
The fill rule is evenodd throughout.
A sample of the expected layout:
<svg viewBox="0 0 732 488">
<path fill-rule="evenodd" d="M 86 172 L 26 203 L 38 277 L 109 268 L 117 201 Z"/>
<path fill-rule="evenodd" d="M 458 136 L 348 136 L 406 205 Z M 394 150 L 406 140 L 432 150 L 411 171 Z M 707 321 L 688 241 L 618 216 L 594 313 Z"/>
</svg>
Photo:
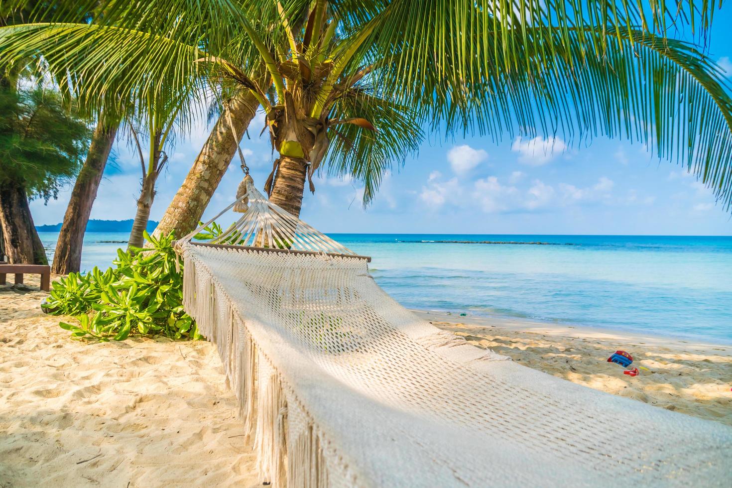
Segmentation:
<svg viewBox="0 0 732 488">
<path fill-rule="evenodd" d="M 0 28 L 0 56 L 39 56 L 66 78 L 80 105 L 111 110 L 200 84 L 201 52 L 170 38 L 132 29 L 73 23 Z"/>
</svg>

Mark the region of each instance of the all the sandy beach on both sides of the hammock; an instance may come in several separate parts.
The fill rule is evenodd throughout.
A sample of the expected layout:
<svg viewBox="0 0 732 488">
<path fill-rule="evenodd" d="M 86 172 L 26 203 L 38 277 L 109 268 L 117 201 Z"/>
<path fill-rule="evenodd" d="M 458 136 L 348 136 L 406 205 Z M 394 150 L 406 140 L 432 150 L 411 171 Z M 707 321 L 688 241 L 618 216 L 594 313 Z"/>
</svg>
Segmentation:
<svg viewBox="0 0 732 488">
<path fill-rule="evenodd" d="M 43 296 L 0 287 L 0 487 L 259 486 L 212 344 L 73 341 Z M 419 314 L 551 375 L 732 424 L 730 347 Z M 616 349 L 647 369 L 623 375 L 605 361 Z"/>
</svg>

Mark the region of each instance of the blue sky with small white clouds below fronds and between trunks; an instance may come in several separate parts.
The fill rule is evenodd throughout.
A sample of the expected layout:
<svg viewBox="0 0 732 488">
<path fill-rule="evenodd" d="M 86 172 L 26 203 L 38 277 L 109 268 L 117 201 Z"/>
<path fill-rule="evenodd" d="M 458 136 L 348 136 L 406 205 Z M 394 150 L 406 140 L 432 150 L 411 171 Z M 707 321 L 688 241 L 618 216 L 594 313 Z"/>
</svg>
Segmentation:
<svg viewBox="0 0 732 488">
<path fill-rule="evenodd" d="M 709 56 L 732 78 L 732 39 L 722 7 L 709 34 Z M 264 114 L 250 124 L 242 151 L 258 188 L 272 169 L 269 138 L 258 139 Z M 168 150 L 151 219 L 158 220 L 182 184 L 209 134 L 198 121 L 187 139 Z M 100 184 L 92 219 L 132 219 L 139 194 L 140 162 L 124 135 Z M 242 180 L 237 157 L 206 209 L 213 217 L 234 200 Z M 374 202 L 364 209 L 362 185 L 321 175 L 306 191 L 301 218 L 329 233 L 468 233 L 599 235 L 732 235 L 731 211 L 712 191 L 673 162 L 660 161 L 640 143 L 596 138 L 580 147 L 561 138 L 432 134 L 414 157 L 396 164 Z M 58 200 L 31 202 L 36 225 L 61 222 L 70 187 Z"/>
</svg>

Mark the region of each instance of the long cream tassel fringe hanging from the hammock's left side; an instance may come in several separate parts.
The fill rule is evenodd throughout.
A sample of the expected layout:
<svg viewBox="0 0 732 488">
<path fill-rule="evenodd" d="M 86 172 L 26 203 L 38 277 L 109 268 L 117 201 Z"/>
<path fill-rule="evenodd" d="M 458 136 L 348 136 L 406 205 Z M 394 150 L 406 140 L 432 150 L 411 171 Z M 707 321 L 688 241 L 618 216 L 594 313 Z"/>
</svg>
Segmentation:
<svg viewBox="0 0 732 488">
<path fill-rule="evenodd" d="M 198 331 L 216 345 L 227 386 L 244 419 L 245 440 L 253 440 L 262 481 L 274 487 L 328 487 L 330 463 L 319 429 L 294 395 L 285 392 L 280 375 L 258 351 L 241 315 L 219 293 L 214 279 L 185 256 L 184 269 L 184 307 Z"/>
</svg>

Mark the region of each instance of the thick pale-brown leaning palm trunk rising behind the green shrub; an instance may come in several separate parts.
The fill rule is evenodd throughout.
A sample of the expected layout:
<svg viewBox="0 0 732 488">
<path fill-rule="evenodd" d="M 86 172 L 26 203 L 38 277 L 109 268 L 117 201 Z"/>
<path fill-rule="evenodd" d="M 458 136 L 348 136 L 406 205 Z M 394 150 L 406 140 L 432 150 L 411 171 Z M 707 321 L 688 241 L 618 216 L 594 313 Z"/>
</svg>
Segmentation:
<svg viewBox="0 0 732 488">
<path fill-rule="evenodd" d="M 198 227 L 203 211 L 228 169 L 239 140 L 249 127 L 258 106 L 259 102 L 255 97 L 244 94 L 234 97 L 228 108 L 224 108 L 201 152 L 195 158 L 193 168 L 190 168 L 188 176 L 160 219 L 154 236 L 165 236 L 172 232 L 174 236 L 182 237 Z M 229 115 L 236 138 L 231 131 Z"/>
</svg>

